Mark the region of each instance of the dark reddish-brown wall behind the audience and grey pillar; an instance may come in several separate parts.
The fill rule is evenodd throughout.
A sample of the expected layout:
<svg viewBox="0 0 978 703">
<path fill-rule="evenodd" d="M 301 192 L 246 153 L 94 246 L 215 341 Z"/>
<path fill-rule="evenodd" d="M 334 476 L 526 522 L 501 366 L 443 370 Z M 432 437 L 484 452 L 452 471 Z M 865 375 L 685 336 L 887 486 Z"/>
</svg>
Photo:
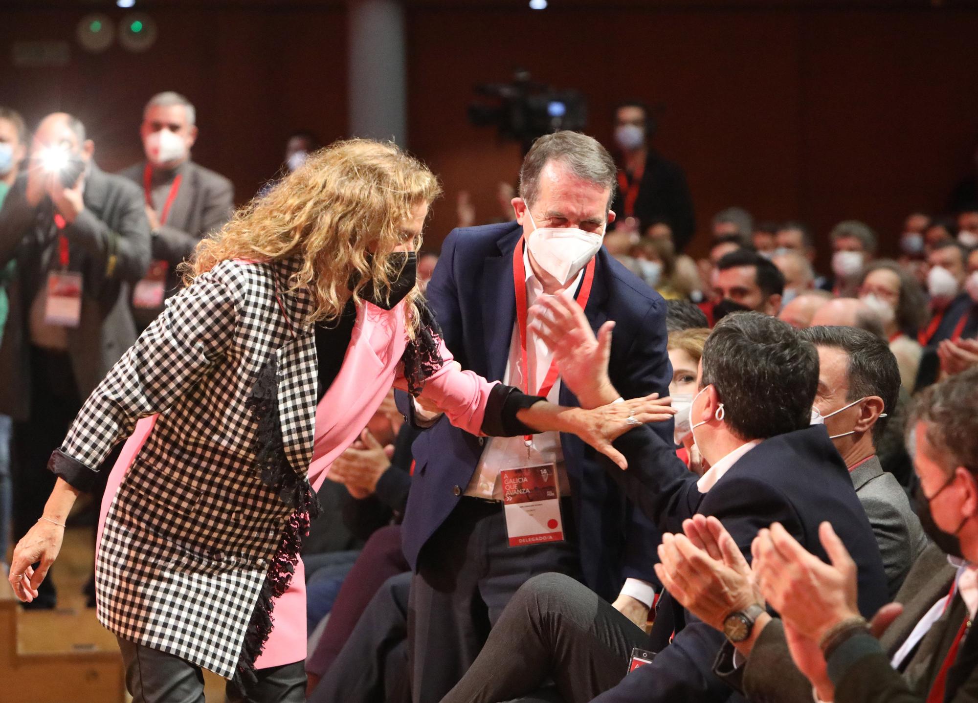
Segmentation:
<svg viewBox="0 0 978 703">
<path fill-rule="evenodd" d="M 660 106 L 656 146 L 687 170 L 702 250 L 713 212 L 739 204 L 759 219 L 800 217 L 821 237 L 841 219 L 893 238 L 912 209 L 943 208 L 972 168 L 978 133 L 978 11 L 892 3 L 610 6 L 552 0 L 411 2 L 407 8 L 409 147 L 437 171 L 446 198 L 428 241 L 470 191 L 497 216 L 496 185 L 519 148 L 467 123 L 472 86 L 515 66 L 590 100 L 589 132 L 610 137 L 610 106 Z M 82 10 L 103 10 L 93 4 Z M 75 7 L 0 9 L 0 104 L 31 122 L 70 110 L 89 125 L 109 169 L 140 157 L 140 110 L 154 92 L 199 110 L 195 157 L 231 177 L 240 200 L 274 174 L 295 128 L 330 141 L 346 126 L 345 11 L 335 3 L 143 8 L 159 37 L 145 54 L 85 54 Z M 121 11 L 105 9 L 113 17 Z M 14 41 L 67 39 L 64 68 L 15 68 Z M 884 250 L 892 242 L 884 243 Z M 892 250 L 892 249 L 891 249 Z"/>
</svg>

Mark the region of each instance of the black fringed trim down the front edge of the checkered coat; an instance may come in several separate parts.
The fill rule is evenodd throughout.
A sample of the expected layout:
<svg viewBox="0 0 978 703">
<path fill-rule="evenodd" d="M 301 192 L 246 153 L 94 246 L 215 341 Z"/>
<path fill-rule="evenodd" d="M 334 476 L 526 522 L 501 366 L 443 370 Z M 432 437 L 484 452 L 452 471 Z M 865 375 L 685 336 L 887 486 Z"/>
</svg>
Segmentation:
<svg viewBox="0 0 978 703">
<path fill-rule="evenodd" d="M 275 491 L 279 499 L 292 508 L 292 513 L 283 527 L 282 540 L 268 566 L 258 602 L 255 603 L 244 633 L 244 645 L 234 677 L 234 681 L 244 691 L 257 683 L 254 662 L 264 649 L 268 636 L 272 634 L 275 598 L 289 590 L 299 551 L 302 549 L 302 539 L 309 534 L 309 524 L 320 512 L 316 492 L 305 476 L 292 469 L 286 457 L 278 398 L 278 360 L 273 354 L 258 374 L 245 406 L 258 423 L 255 464 L 260 471 L 261 482 Z"/>
</svg>

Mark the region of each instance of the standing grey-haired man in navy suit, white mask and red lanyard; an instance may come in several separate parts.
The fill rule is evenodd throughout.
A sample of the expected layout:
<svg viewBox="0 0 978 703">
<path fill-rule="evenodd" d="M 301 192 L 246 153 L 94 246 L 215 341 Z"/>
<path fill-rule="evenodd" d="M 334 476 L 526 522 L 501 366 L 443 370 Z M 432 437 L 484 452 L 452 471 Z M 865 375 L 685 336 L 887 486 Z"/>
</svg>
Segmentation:
<svg viewBox="0 0 978 703">
<path fill-rule="evenodd" d="M 577 406 L 551 375 L 553 352 L 527 314 L 537 299 L 564 291 L 584 306 L 592 330 L 617 323 L 610 367 L 621 393 L 667 395 L 665 303 L 600 246 L 614 220 L 615 174 L 594 139 L 574 132 L 542 137 L 520 170 L 516 222 L 448 236 L 427 299 L 464 368 Z M 672 442 L 671 421 L 654 431 Z M 536 574 L 580 579 L 645 623 L 656 529 L 577 437 L 542 433 L 531 442 L 527 448 L 523 437 L 486 440 L 441 419 L 414 445 L 403 535 L 415 571 L 409 612 L 415 703 L 440 700 L 465 674 L 512 593 Z M 499 471 L 528 465 L 556 469 L 562 542 L 508 546 Z"/>
</svg>

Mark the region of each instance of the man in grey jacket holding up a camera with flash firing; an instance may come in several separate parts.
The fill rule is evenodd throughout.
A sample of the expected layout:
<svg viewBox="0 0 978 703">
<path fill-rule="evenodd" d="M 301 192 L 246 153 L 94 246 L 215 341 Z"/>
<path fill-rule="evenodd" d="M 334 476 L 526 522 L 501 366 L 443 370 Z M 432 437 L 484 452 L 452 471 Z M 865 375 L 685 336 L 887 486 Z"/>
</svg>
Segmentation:
<svg viewBox="0 0 978 703">
<path fill-rule="evenodd" d="M 56 478 L 44 467 L 81 399 L 136 340 L 129 285 L 149 266 L 150 224 L 139 188 L 101 171 L 94 151 L 78 119 L 48 115 L 0 209 L 0 268 L 17 261 L 0 345 L 15 539 L 41 515 Z M 54 607 L 45 584 L 32 607 Z"/>
</svg>

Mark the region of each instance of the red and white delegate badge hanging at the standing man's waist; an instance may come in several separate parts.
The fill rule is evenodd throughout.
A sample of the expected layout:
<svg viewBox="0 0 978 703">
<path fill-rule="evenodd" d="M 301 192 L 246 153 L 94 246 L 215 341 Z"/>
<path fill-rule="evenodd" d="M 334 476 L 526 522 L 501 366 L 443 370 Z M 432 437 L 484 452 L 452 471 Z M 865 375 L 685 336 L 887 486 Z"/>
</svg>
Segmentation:
<svg viewBox="0 0 978 703">
<path fill-rule="evenodd" d="M 553 463 L 499 472 L 510 547 L 563 541 L 560 489 Z"/>
</svg>

